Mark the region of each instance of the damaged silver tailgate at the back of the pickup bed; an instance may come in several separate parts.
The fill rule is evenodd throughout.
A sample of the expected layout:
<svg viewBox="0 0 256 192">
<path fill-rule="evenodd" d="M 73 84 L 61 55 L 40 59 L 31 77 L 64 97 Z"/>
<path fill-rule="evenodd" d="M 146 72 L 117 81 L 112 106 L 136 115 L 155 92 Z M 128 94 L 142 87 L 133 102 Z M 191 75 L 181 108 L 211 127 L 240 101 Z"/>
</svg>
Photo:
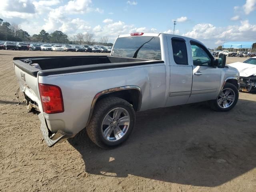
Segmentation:
<svg viewBox="0 0 256 192">
<path fill-rule="evenodd" d="M 38 104 L 42 112 L 40 94 L 38 90 L 37 73 L 39 69 L 20 60 L 13 60 L 16 77 L 19 81 L 20 91 Z"/>
</svg>

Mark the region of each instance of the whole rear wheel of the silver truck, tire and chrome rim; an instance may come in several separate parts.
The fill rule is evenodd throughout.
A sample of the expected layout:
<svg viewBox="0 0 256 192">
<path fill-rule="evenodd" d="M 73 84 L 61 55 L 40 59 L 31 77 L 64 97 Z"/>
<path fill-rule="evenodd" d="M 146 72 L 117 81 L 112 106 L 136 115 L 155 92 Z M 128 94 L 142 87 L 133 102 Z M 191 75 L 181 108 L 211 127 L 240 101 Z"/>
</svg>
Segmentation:
<svg viewBox="0 0 256 192">
<path fill-rule="evenodd" d="M 86 131 L 96 145 L 113 148 L 127 140 L 134 124 L 132 105 L 121 98 L 109 97 L 96 103 Z"/>
</svg>

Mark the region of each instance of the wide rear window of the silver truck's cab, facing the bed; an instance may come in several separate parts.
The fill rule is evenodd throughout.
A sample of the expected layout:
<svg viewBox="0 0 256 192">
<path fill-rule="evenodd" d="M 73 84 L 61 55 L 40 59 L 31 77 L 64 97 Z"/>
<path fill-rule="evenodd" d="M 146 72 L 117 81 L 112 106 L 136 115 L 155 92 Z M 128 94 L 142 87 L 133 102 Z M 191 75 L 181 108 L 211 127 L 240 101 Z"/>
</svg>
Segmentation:
<svg viewBox="0 0 256 192">
<path fill-rule="evenodd" d="M 161 60 L 160 38 L 154 36 L 134 36 L 118 38 L 112 49 L 117 57 Z"/>
</svg>

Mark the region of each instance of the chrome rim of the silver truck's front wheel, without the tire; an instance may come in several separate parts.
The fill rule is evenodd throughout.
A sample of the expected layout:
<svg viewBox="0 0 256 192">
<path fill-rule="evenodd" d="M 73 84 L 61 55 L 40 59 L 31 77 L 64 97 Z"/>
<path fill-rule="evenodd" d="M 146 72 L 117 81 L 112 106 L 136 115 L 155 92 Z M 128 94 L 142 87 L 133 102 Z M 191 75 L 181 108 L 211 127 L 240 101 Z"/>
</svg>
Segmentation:
<svg viewBox="0 0 256 192">
<path fill-rule="evenodd" d="M 218 106 L 220 106 L 220 108 L 228 108 L 234 103 L 235 98 L 236 95 L 232 89 L 223 89 L 217 98 Z"/>
</svg>

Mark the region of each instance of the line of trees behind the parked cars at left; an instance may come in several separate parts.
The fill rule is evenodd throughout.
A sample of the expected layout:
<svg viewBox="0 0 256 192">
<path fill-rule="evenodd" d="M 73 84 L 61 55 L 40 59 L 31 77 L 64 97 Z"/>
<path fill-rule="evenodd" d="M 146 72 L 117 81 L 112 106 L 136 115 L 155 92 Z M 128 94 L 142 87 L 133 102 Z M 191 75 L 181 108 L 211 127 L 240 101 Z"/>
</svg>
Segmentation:
<svg viewBox="0 0 256 192">
<path fill-rule="evenodd" d="M 112 46 L 112 43 L 108 43 L 108 37 L 104 36 L 96 42 L 94 35 L 90 33 L 82 34 L 78 33 L 73 36 L 67 36 L 62 31 L 54 31 L 48 33 L 45 30 L 41 30 L 39 34 L 30 36 L 28 32 L 22 30 L 19 25 L 9 22 L 3 22 L 0 18 L 0 40 L 6 41 L 26 41 L 26 42 L 42 42 L 42 43 L 66 43 L 66 44 L 102 44 L 105 46 Z"/>
</svg>

